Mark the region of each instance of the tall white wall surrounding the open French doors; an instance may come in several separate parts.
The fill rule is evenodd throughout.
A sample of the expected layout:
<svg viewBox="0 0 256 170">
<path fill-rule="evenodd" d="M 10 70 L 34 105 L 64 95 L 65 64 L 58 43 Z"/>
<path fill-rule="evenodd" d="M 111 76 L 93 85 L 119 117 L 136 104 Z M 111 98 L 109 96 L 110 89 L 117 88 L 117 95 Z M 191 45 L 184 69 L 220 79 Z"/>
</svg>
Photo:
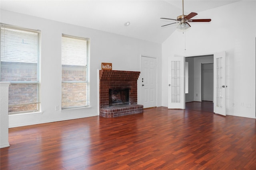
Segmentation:
<svg viewBox="0 0 256 170">
<path fill-rule="evenodd" d="M 190 24 L 191 28 L 185 33 L 186 51 L 184 34 L 179 30 L 162 44 L 162 106 L 168 106 L 169 57 L 226 51 L 226 112 L 228 115 L 255 118 L 256 2 L 239 1 L 200 12 L 196 18 L 211 18 L 212 21 Z"/>
</svg>

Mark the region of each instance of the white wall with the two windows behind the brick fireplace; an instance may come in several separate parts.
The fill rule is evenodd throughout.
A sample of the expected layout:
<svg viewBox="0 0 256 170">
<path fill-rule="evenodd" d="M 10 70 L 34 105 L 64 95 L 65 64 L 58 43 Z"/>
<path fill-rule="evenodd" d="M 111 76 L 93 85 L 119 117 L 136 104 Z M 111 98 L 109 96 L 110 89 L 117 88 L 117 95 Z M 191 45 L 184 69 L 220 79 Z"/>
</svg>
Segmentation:
<svg viewBox="0 0 256 170">
<path fill-rule="evenodd" d="M 101 69 L 101 63 L 112 63 L 113 70 L 140 71 L 140 56 L 145 55 L 157 58 L 158 73 L 161 73 L 161 44 L 4 10 L 1 10 L 0 19 L 1 23 L 39 29 L 42 37 L 42 113 L 9 115 L 9 127 L 98 115 L 97 69 Z M 55 106 L 61 107 L 62 33 L 90 38 L 90 108 L 55 111 Z M 157 82 L 160 88 L 158 88 L 157 100 L 160 104 L 161 81 L 161 76 L 158 76 Z M 140 89 L 138 89 L 138 94 L 140 94 Z"/>
</svg>

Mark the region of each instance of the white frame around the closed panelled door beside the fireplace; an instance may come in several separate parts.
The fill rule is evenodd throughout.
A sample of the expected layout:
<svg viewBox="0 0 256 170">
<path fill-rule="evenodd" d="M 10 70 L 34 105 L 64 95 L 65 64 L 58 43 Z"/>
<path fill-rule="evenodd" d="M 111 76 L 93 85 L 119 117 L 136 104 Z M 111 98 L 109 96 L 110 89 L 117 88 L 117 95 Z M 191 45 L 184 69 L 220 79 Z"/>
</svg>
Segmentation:
<svg viewBox="0 0 256 170">
<path fill-rule="evenodd" d="M 148 58 L 153 58 L 153 59 L 156 59 L 156 96 L 155 96 L 155 100 L 156 100 L 156 107 L 158 107 L 158 58 L 157 57 L 152 57 L 152 56 L 148 56 L 148 55 L 140 55 L 140 72 L 142 70 L 142 67 L 141 67 L 141 64 L 142 64 L 142 57 L 148 57 Z M 142 75 L 140 74 L 139 78 L 138 78 L 138 81 L 137 81 L 137 84 L 138 86 L 140 86 L 140 88 L 138 88 L 138 104 L 143 104 L 143 101 L 142 101 L 142 96 L 141 96 L 141 92 L 142 92 Z M 140 94 L 140 95 L 139 95 Z"/>
</svg>

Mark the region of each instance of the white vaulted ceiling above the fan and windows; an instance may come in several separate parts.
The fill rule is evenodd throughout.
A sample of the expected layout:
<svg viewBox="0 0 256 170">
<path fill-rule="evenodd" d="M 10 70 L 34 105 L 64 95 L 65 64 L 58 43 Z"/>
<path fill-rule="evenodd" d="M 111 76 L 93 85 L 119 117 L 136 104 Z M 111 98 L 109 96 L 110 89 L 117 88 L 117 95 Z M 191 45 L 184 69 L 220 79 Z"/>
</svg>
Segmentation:
<svg viewBox="0 0 256 170">
<path fill-rule="evenodd" d="M 239 0 L 184 0 L 184 14 Z M 0 0 L 0 8 L 21 14 L 80 25 L 128 37 L 162 43 L 176 29 L 161 27 L 182 14 L 182 0 Z M 124 23 L 130 21 L 129 26 Z M 190 24 L 192 25 L 192 24 Z"/>
</svg>

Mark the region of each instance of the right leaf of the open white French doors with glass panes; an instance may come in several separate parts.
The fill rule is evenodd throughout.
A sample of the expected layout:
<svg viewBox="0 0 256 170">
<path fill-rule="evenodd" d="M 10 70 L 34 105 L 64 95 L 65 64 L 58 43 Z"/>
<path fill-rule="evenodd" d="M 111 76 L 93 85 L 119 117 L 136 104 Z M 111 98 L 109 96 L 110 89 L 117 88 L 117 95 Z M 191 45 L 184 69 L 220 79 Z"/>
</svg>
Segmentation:
<svg viewBox="0 0 256 170">
<path fill-rule="evenodd" d="M 214 54 L 214 107 L 213 112 L 226 115 L 226 55 L 225 51 Z"/>
</svg>

